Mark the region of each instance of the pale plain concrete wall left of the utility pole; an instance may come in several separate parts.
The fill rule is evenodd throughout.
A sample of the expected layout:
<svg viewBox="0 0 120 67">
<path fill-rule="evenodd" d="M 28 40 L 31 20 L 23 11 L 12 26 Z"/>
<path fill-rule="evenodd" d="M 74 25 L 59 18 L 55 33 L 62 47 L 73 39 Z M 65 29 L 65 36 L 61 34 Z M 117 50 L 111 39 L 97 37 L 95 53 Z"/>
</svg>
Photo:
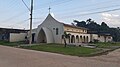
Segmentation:
<svg viewBox="0 0 120 67">
<path fill-rule="evenodd" d="M 10 42 L 24 41 L 27 33 L 10 33 Z"/>
</svg>

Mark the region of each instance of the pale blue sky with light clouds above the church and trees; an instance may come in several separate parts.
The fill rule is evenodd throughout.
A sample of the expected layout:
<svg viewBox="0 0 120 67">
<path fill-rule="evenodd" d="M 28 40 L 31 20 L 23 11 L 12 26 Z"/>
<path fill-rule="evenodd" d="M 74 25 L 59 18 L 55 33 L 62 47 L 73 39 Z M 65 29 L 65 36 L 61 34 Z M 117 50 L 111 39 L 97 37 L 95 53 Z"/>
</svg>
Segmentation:
<svg viewBox="0 0 120 67">
<path fill-rule="evenodd" d="M 24 0 L 30 8 L 30 0 Z M 110 27 L 120 27 L 120 0 L 34 0 L 33 28 L 49 14 L 60 22 L 73 23 L 89 18 L 98 24 L 106 22 Z M 115 11 L 111 11 L 118 9 Z M 108 11 L 108 12 L 106 12 Z M 29 29 L 30 11 L 22 0 L 0 0 L 0 27 Z"/>
</svg>

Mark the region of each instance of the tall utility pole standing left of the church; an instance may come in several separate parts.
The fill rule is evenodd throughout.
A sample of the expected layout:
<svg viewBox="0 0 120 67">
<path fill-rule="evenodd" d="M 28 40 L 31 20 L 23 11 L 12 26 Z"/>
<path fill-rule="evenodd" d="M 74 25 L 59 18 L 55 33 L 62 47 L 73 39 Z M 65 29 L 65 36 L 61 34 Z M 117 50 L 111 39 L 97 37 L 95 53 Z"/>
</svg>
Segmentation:
<svg viewBox="0 0 120 67">
<path fill-rule="evenodd" d="M 32 19 L 33 19 L 33 0 L 31 0 L 31 10 L 30 10 L 30 37 L 29 37 L 29 44 L 32 43 Z"/>
</svg>

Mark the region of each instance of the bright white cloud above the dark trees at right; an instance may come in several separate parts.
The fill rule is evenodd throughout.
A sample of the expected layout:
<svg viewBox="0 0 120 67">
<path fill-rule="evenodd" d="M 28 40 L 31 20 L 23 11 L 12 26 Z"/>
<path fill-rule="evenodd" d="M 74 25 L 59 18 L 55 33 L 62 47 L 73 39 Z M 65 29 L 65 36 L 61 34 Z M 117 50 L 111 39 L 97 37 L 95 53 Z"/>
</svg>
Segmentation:
<svg viewBox="0 0 120 67">
<path fill-rule="evenodd" d="M 106 22 L 108 25 L 112 27 L 120 26 L 120 15 L 110 14 L 110 13 L 102 13 L 101 14 L 102 21 Z"/>
</svg>

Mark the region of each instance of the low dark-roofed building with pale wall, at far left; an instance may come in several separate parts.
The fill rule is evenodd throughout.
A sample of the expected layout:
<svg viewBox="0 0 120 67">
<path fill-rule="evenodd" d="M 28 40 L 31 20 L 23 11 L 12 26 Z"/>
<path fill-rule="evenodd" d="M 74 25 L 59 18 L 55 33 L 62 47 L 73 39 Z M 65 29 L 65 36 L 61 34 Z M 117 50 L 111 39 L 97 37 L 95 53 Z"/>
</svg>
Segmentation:
<svg viewBox="0 0 120 67">
<path fill-rule="evenodd" d="M 28 30 L 0 28 L 0 40 L 16 42 L 24 41 Z"/>
</svg>

